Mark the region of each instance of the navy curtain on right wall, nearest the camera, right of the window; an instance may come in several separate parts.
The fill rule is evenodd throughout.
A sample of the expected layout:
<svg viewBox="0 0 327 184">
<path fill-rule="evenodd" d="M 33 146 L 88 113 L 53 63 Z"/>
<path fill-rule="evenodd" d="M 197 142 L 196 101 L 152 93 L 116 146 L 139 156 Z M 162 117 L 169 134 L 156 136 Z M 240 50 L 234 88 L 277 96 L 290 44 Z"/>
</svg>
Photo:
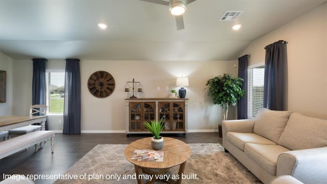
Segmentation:
<svg viewBox="0 0 327 184">
<path fill-rule="evenodd" d="M 265 50 L 264 107 L 271 110 L 284 110 L 286 42 L 283 40 L 276 41 L 267 45 Z"/>
</svg>

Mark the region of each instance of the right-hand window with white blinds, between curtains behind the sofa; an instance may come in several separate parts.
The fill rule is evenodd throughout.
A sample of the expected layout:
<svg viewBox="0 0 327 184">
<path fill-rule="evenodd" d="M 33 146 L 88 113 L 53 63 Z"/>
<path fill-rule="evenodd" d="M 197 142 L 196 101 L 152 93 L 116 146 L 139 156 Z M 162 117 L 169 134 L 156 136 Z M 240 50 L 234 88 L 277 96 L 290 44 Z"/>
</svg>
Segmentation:
<svg viewBox="0 0 327 184">
<path fill-rule="evenodd" d="M 247 116 L 254 118 L 259 109 L 264 106 L 265 65 L 249 66 L 247 78 Z"/>
</svg>

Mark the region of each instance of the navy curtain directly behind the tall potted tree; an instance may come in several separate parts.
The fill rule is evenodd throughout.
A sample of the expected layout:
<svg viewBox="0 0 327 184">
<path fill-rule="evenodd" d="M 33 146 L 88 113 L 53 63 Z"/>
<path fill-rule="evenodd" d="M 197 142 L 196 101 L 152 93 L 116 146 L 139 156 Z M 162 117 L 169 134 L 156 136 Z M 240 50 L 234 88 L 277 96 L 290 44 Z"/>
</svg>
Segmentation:
<svg viewBox="0 0 327 184">
<path fill-rule="evenodd" d="M 247 119 L 247 66 L 249 55 L 239 57 L 238 77 L 244 79 L 243 89 L 245 89 L 245 97 L 242 97 L 237 103 L 237 119 Z"/>
</svg>

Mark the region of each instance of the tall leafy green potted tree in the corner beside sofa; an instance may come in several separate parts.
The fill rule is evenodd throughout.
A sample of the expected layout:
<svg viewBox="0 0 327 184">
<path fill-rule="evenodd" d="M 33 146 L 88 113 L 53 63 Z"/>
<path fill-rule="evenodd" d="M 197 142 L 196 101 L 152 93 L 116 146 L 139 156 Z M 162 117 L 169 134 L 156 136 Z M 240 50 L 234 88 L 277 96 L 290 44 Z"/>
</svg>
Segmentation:
<svg viewBox="0 0 327 184">
<path fill-rule="evenodd" d="M 242 88 L 244 80 L 234 77 L 232 74 L 224 74 L 209 79 L 208 96 L 213 98 L 214 104 L 223 108 L 224 120 L 227 120 L 228 106 L 235 106 L 237 101 L 245 97 L 245 89 Z M 221 124 L 219 124 L 219 136 L 221 136 Z"/>
</svg>

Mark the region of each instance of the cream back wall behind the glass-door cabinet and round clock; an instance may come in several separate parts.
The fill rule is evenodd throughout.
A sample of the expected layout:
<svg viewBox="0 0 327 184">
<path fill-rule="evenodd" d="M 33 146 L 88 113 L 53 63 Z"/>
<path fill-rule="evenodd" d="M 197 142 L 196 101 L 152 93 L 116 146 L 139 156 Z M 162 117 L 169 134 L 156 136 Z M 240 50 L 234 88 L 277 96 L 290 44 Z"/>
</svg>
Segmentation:
<svg viewBox="0 0 327 184">
<path fill-rule="evenodd" d="M 186 98 L 189 98 L 189 131 L 207 132 L 217 131 L 218 123 L 222 120 L 222 109 L 213 105 L 211 98 L 206 94 L 206 81 L 224 73 L 236 74 L 233 65 L 236 61 L 99 61 L 81 60 L 81 96 L 82 132 L 125 132 L 125 99 L 131 94 L 124 92 L 127 81 L 141 82 L 144 93 L 137 94 L 138 98 L 165 98 L 169 97 L 171 89 L 176 87 L 177 77 L 189 77 L 190 86 Z M 30 85 L 15 85 L 15 91 L 26 91 L 26 95 L 14 99 L 15 114 L 24 114 L 32 100 L 32 60 L 14 60 L 14 83 Z M 49 60 L 47 70 L 64 70 L 65 61 Z M 24 73 L 29 70 L 31 72 Z M 92 96 L 87 88 L 88 77 L 96 71 L 109 72 L 115 80 L 113 93 L 106 98 Z M 24 80 L 22 80 L 24 79 Z M 157 90 L 157 86 L 160 90 Z M 169 90 L 166 90 L 169 86 Z M 16 92 L 18 93 L 18 92 Z M 230 110 L 230 119 L 235 117 L 233 108 Z M 59 120 L 62 116 L 50 116 L 49 128 L 61 130 Z"/>
</svg>

